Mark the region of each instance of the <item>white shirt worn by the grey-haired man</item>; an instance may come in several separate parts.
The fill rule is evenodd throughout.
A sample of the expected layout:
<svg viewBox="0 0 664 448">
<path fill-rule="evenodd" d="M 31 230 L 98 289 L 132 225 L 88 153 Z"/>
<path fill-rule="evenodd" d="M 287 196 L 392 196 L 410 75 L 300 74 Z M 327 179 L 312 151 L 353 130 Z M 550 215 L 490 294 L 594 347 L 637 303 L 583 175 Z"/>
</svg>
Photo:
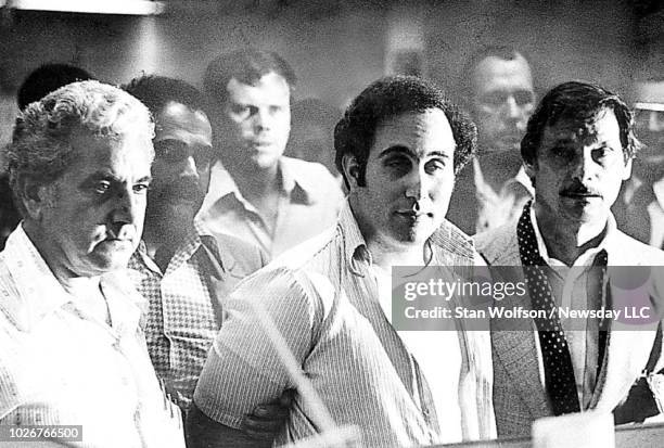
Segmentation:
<svg viewBox="0 0 664 448">
<path fill-rule="evenodd" d="M 69 295 L 20 226 L 0 254 L 0 424 L 82 425 L 84 447 L 183 447 L 122 273 L 100 289 L 112 324 Z"/>
</svg>

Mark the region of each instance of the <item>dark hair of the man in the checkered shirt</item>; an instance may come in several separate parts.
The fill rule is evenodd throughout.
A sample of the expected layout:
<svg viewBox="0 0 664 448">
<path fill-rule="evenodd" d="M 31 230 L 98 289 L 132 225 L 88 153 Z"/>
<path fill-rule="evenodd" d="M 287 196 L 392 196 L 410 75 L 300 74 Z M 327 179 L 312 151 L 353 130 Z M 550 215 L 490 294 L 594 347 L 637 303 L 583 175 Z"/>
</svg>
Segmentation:
<svg viewBox="0 0 664 448">
<path fill-rule="evenodd" d="M 123 88 L 145 104 L 153 116 L 162 112 L 170 101 L 182 103 L 194 111 L 205 111 L 203 94 L 199 89 L 181 79 L 143 75 L 133 78 Z"/>
</svg>

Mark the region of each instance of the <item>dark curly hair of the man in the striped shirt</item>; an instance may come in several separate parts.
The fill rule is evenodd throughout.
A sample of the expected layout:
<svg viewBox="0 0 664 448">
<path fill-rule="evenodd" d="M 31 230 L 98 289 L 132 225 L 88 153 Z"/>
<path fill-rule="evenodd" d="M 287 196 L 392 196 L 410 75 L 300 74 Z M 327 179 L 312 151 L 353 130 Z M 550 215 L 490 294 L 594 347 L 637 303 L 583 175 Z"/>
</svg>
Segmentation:
<svg viewBox="0 0 664 448">
<path fill-rule="evenodd" d="M 365 184 L 367 161 L 378 126 L 385 119 L 408 112 L 424 112 L 439 108 L 445 113 L 457 146 L 455 149 L 455 174 L 470 161 L 476 151 L 477 129 L 471 119 L 432 82 L 414 76 L 392 76 L 379 79 L 367 87 L 348 106 L 334 128 L 335 164 L 343 170 L 344 155 L 357 159 L 360 172 L 358 183 Z"/>
</svg>

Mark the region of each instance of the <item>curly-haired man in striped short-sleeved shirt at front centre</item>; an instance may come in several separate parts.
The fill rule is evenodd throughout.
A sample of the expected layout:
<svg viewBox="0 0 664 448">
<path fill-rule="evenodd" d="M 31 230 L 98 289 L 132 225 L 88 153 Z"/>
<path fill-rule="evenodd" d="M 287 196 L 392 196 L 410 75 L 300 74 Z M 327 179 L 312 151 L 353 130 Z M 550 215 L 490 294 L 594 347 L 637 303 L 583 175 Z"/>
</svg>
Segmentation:
<svg viewBox="0 0 664 448">
<path fill-rule="evenodd" d="M 392 323 L 393 266 L 471 269 L 478 259 L 445 220 L 455 172 L 474 145 L 472 121 L 422 79 L 380 79 L 353 101 L 334 131 L 349 190 L 337 225 L 231 295 L 188 415 L 194 447 L 255 446 L 238 431 L 242 415 L 294 386 L 278 444 L 328 435 L 320 405 L 334 425 L 357 426 L 362 446 L 494 435 L 487 332 L 405 335 Z M 266 321 L 283 343 L 266 335 Z"/>
</svg>

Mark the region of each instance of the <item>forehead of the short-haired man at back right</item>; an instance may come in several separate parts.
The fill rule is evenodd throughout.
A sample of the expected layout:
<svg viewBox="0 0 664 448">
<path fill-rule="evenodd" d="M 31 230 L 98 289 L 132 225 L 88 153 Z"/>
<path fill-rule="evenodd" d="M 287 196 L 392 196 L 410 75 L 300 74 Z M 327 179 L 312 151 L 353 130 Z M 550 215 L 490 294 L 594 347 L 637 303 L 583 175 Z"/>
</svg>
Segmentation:
<svg viewBox="0 0 664 448">
<path fill-rule="evenodd" d="M 486 91 L 533 90 L 533 76 L 527 61 L 516 54 L 513 60 L 498 56 L 483 59 L 473 73 L 475 94 Z"/>
</svg>

